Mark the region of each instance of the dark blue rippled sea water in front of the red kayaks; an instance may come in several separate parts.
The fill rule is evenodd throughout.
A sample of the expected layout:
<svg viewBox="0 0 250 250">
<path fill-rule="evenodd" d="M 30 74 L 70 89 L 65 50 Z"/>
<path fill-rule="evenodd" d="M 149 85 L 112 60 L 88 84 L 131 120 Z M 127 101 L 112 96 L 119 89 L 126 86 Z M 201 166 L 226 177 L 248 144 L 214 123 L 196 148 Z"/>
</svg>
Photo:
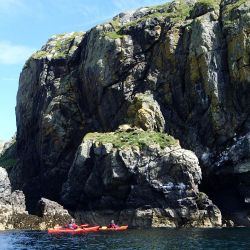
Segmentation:
<svg viewBox="0 0 250 250">
<path fill-rule="evenodd" d="M 9 231 L 0 233 L 0 249 L 250 249 L 250 229 L 131 229 L 83 235 Z"/>
</svg>

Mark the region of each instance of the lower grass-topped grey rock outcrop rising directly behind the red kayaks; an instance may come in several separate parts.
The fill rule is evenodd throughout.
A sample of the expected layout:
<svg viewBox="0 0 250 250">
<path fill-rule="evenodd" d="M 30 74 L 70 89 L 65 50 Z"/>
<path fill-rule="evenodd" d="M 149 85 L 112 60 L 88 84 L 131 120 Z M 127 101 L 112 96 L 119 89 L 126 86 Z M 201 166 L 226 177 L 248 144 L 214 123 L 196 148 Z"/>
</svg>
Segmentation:
<svg viewBox="0 0 250 250">
<path fill-rule="evenodd" d="M 107 222 L 112 210 L 131 226 L 220 226 L 220 211 L 199 192 L 200 181 L 197 157 L 172 137 L 92 133 L 78 149 L 62 200 L 90 222 L 95 214 Z"/>
</svg>

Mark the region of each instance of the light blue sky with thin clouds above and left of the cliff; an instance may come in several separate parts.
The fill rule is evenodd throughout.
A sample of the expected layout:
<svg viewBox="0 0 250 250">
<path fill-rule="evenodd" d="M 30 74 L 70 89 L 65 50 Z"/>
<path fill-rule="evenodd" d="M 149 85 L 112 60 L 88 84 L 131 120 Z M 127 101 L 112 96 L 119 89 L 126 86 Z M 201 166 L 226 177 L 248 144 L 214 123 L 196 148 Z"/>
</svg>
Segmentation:
<svg viewBox="0 0 250 250">
<path fill-rule="evenodd" d="M 124 10 L 167 0 L 0 0 L 0 139 L 16 132 L 18 78 L 28 57 L 54 34 L 86 31 Z"/>
</svg>

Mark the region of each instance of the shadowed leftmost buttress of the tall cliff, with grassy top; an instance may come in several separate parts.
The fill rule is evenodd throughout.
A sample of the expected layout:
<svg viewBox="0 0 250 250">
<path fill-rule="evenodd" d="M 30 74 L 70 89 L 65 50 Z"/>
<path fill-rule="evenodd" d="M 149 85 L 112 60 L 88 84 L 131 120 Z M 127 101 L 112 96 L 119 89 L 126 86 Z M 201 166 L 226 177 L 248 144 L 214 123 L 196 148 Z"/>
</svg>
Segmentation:
<svg viewBox="0 0 250 250">
<path fill-rule="evenodd" d="M 76 62 L 83 37 L 81 32 L 52 37 L 20 76 L 16 114 L 21 162 L 14 172 L 22 183 L 15 177 L 13 183 L 28 194 L 33 210 L 41 194 L 58 197 L 82 134 Z"/>
</svg>

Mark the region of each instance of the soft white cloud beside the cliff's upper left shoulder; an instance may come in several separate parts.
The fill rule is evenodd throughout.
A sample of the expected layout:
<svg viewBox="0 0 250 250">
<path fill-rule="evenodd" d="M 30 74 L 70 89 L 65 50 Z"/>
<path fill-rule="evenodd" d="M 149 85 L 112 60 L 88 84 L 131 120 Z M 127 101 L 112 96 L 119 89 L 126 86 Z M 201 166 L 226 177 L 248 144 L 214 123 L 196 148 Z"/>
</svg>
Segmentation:
<svg viewBox="0 0 250 250">
<path fill-rule="evenodd" d="M 27 46 L 0 41 L 0 64 L 22 64 L 34 51 Z"/>
</svg>

